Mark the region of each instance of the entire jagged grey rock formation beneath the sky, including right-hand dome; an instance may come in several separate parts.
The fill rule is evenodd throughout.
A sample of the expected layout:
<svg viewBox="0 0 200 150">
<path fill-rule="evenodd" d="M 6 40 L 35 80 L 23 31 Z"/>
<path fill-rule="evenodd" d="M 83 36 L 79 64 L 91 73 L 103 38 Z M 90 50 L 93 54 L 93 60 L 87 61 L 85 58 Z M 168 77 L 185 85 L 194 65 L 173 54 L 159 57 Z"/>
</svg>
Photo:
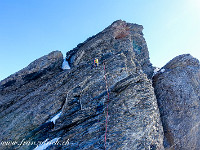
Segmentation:
<svg viewBox="0 0 200 150">
<path fill-rule="evenodd" d="M 153 75 L 142 30 L 115 21 L 64 65 L 54 51 L 2 80 L 0 149 L 199 149 L 199 61 L 180 55 Z"/>
</svg>

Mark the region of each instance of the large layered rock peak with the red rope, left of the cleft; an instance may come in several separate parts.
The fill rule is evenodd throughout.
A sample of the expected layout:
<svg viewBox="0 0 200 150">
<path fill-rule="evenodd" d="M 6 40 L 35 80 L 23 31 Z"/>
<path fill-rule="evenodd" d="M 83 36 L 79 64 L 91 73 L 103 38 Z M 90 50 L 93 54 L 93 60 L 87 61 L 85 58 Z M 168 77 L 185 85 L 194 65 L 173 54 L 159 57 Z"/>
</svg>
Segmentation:
<svg viewBox="0 0 200 150">
<path fill-rule="evenodd" d="M 105 145 L 113 150 L 162 150 L 163 129 L 150 80 L 153 67 L 142 29 L 116 21 L 67 53 L 70 70 L 60 69 L 63 56 L 55 51 L 1 81 L 0 140 L 37 143 L 59 138 L 65 144 L 47 149 L 63 150 Z M 98 67 L 93 67 L 94 58 Z M 50 119 L 58 112 L 54 124 Z"/>
</svg>

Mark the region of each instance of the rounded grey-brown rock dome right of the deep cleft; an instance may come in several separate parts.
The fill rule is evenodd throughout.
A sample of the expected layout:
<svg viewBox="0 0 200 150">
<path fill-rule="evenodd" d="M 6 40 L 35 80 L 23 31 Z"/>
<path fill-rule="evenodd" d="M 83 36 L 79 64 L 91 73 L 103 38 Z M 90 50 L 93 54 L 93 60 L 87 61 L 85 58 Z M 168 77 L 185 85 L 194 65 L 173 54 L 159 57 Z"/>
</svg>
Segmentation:
<svg viewBox="0 0 200 150">
<path fill-rule="evenodd" d="M 200 148 L 200 64 L 189 54 L 175 57 L 153 78 L 164 128 L 164 146 Z"/>
</svg>

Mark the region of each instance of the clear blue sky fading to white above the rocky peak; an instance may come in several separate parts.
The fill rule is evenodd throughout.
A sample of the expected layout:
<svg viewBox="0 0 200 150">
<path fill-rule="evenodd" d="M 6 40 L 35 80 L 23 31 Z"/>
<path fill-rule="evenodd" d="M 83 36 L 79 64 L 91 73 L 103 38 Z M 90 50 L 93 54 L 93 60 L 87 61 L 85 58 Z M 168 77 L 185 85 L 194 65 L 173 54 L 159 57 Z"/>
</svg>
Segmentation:
<svg viewBox="0 0 200 150">
<path fill-rule="evenodd" d="M 0 80 L 118 19 L 143 25 L 154 66 L 184 53 L 200 59 L 200 0 L 0 0 Z"/>
</svg>

